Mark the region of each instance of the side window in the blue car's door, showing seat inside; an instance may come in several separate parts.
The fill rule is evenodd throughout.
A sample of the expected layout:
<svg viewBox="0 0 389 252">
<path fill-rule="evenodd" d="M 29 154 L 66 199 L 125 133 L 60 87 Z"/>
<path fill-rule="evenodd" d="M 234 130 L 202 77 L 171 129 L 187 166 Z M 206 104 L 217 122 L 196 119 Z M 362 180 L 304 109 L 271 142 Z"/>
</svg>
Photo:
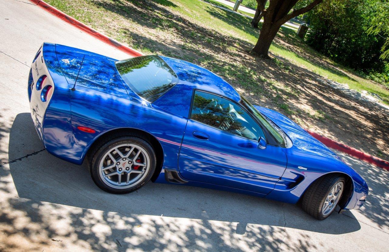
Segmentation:
<svg viewBox="0 0 389 252">
<path fill-rule="evenodd" d="M 243 108 L 214 94 L 195 91 L 191 119 L 252 140 L 265 138 L 262 128 Z"/>
</svg>

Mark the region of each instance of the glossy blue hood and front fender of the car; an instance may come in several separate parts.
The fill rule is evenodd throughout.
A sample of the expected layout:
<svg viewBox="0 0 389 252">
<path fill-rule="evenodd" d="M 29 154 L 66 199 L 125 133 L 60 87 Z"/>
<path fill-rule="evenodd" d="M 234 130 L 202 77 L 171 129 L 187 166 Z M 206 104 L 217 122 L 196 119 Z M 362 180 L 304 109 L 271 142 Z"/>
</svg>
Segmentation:
<svg viewBox="0 0 389 252">
<path fill-rule="evenodd" d="M 361 191 L 354 192 L 359 195 L 359 198 L 363 196 L 363 193 L 361 194 L 361 192 L 366 194 L 368 193 L 366 183 L 361 176 L 346 165 L 342 159 L 340 159 L 325 145 L 309 135 L 307 131 L 302 129 L 289 118 L 275 112 L 274 110 L 259 106 L 255 107 L 280 126 L 293 142 L 293 146 L 291 148 L 284 148 L 284 152 L 288 157 L 286 170 L 277 182 L 275 189 L 268 194 L 266 198 L 274 200 L 281 198 L 282 201 L 296 203 L 304 193 L 305 189 L 318 177 L 318 175 L 321 176 L 331 172 L 339 172 L 349 175 L 349 177 L 352 178 L 354 187 L 356 188 L 364 186 L 364 189 L 361 188 Z M 307 170 L 303 170 L 301 167 L 306 168 Z M 288 188 L 287 184 L 290 180 L 298 181 L 301 178 L 303 178 L 303 180 L 298 186 Z M 286 191 L 289 192 L 287 197 L 285 197 Z"/>
</svg>

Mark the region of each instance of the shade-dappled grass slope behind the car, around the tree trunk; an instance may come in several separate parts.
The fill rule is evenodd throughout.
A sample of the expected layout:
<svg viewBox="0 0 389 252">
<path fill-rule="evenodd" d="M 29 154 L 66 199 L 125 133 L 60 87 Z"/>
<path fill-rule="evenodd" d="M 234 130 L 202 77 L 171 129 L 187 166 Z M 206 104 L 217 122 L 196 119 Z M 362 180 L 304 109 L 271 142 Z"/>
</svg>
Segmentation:
<svg viewBox="0 0 389 252">
<path fill-rule="evenodd" d="M 46 2 L 145 54 L 171 56 L 208 68 L 253 103 L 389 159 L 386 112 L 350 99 L 323 79 L 376 93 L 385 103 L 389 103 L 389 91 L 317 53 L 289 28 L 282 27 L 273 41 L 272 59 L 260 59 L 249 53 L 259 36 L 250 18 L 199 0 Z"/>
</svg>

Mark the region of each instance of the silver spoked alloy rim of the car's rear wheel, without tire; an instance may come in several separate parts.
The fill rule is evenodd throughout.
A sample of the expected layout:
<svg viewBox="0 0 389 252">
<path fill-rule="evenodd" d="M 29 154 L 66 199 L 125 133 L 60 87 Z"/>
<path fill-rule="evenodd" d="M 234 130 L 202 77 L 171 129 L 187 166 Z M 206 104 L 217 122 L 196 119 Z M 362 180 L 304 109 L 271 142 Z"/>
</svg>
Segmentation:
<svg viewBox="0 0 389 252">
<path fill-rule="evenodd" d="M 137 185 L 150 169 L 150 157 L 137 144 L 121 144 L 105 152 L 99 175 L 109 187 L 126 189 Z"/>
</svg>

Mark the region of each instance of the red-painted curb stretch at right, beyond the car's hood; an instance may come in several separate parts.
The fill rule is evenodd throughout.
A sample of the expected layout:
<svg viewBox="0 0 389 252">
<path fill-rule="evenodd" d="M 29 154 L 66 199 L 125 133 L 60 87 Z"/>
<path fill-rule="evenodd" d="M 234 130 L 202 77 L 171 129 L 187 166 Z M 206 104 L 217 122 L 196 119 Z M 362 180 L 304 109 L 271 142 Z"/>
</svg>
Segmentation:
<svg viewBox="0 0 389 252">
<path fill-rule="evenodd" d="M 305 129 L 312 137 L 316 138 L 323 144 L 325 144 L 327 147 L 345 152 L 349 154 L 350 156 L 353 156 L 355 158 L 359 158 L 363 161 L 366 161 L 368 163 L 371 163 L 375 166 L 378 166 L 380 168 L 383 168 L 384 170 L 389 171 L 389 162 L 385 161 L 384 159 L 377 158 L 375 156 L 371 156 L 370 154 L 367 154 L 365 152 L 359 151 L 357 149 L 354 149 L 348 145 L 342 144 L 340 142 L 337 142 L 335 140 L 332 140 L 330 138 L 324 137 L 322 135 L 319 135 L 315 132 L 312 132 L 308 129 Z"/>
</svg>

